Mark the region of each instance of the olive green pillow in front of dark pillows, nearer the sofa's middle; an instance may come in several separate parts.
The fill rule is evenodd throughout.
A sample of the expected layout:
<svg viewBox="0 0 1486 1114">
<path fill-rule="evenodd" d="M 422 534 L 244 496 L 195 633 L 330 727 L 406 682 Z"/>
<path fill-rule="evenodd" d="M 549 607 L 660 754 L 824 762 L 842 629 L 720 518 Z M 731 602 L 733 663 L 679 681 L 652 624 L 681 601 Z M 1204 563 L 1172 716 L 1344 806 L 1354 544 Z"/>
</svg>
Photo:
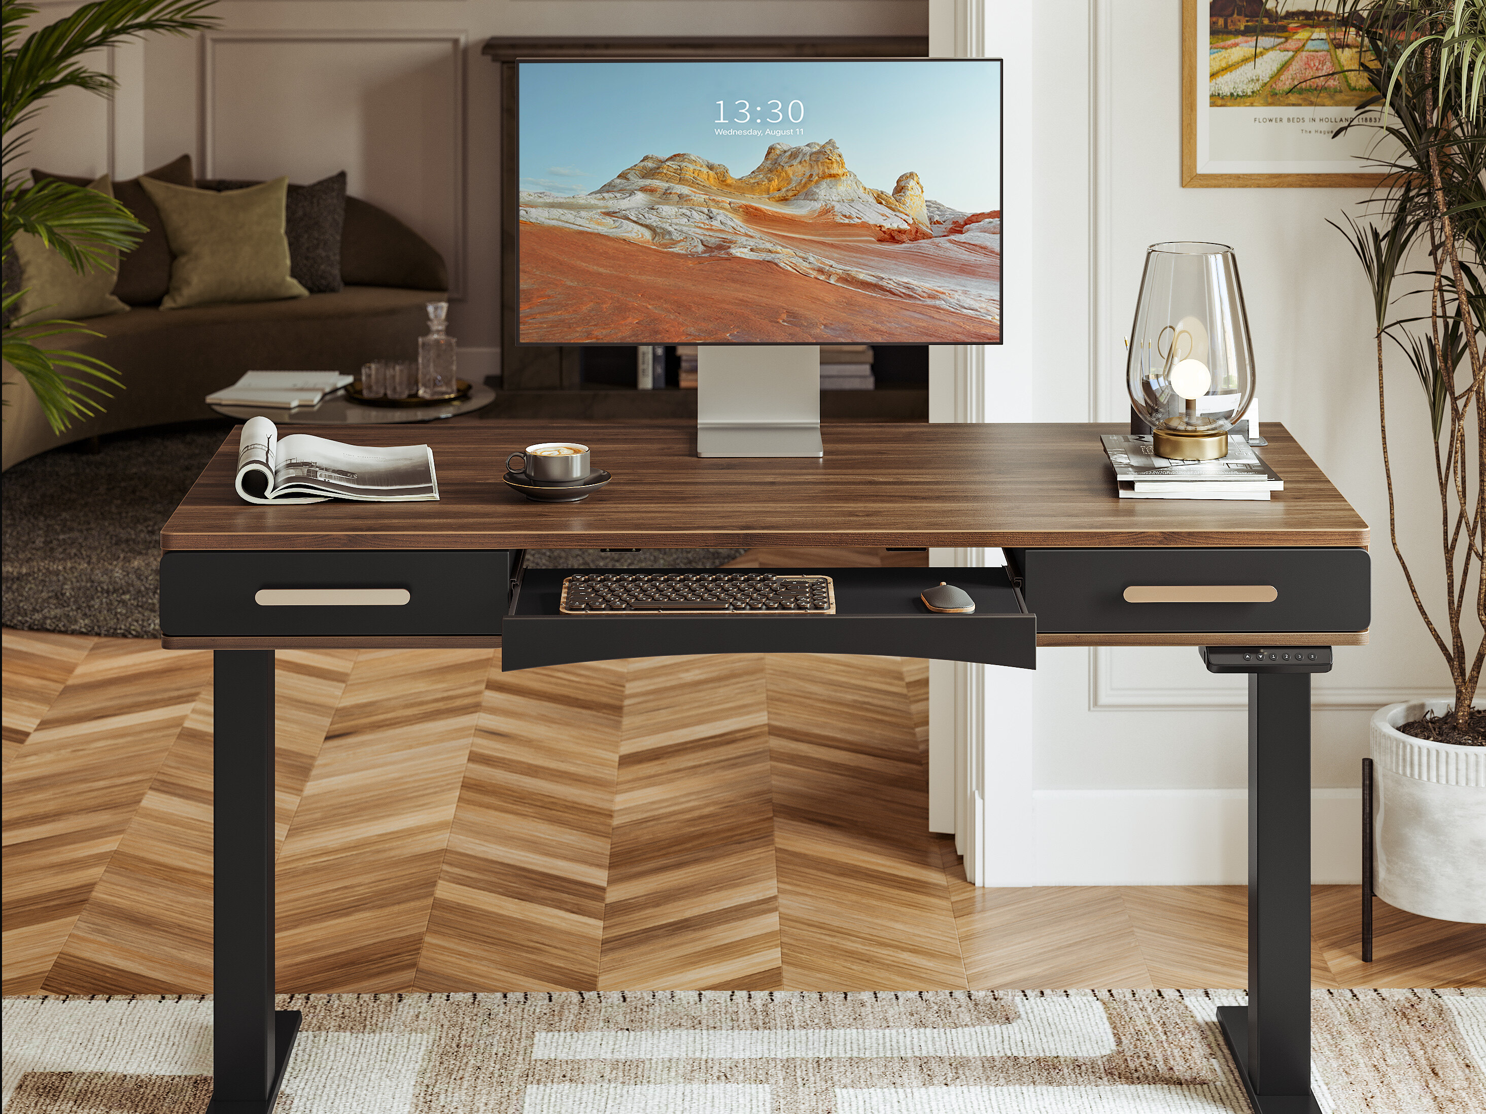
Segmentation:
<svg viewBox="0 0 1486 1114">
<path fill-rule="evenodd" d="M 140 178 L 171 244 L 171 290 L 160 309 L 212 302 L 309 297 L 290 278 L 284 236 L 288 178 L 245 190 L 195 190 Z"/>
</svg>

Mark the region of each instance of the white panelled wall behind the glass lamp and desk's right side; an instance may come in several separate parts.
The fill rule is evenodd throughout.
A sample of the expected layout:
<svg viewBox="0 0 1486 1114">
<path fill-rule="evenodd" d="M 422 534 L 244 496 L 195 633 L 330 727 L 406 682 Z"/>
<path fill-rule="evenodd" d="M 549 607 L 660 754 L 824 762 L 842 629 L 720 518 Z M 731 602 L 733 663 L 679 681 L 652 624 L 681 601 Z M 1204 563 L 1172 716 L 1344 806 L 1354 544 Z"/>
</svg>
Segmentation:
<svg viewBox="0 0 1486 1114">
<path fill-rule="evenodd" d="M 953 0 L 951 0 L 953 1 Z M 1180 4 L 987 0 L 985 53 L 1008 58 L 1008 343 L 988 356 L 988 420 L 1123 420 L 1120 337 L 1144 250 L 1235 247 L 1263 417 L 1284 422 L 1373 526 L 1372 645 L 1314 679 L 1317 881 L 1358 881 L 1360 759 L 1382 704 L 1447 683 L 1386 539 L 1369 302 L 1327 218 L 1355 189 L 1181 189 Z M 1025 77 L 1016 77 L 1019 67 Z M 1028 73 L 1030 71 L 1030 73 Z M 1030 202 L 1016 205 L 1013 172 Z M 1013 302 L 1016 294 L 1021 302 Z M 1400 535 L 1433 576 L 1433 474 L 1421 392 L 1392 367 Z M 1244 881 L 1245 689 L 1193 649 L 1043 649 L 1015 732 L 987 701 L 990 885 Z M 1022 750 L 1028 750 L 1022 753 Z M 997 777 L 997 753 L 1010 777 Z"/>
</svg>

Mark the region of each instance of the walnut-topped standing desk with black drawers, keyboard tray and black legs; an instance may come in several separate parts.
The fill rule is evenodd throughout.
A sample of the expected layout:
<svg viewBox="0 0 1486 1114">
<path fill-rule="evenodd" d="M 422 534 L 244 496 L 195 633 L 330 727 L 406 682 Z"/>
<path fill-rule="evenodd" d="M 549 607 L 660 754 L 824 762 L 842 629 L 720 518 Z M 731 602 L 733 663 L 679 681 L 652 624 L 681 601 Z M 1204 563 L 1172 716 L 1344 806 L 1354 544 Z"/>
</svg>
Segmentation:
<svg viewBox="0 0 1486 1114">
<path fill-rule="evenodd" d="M 502 667 L 661 652 L 911 654 L 1021 668 L 1039 645 L 1204 648 L 1250 674 L 1250 1004 L 1220 1020 L 1263 1114 L 1309 1096 L 1309 674 L 1367 640 L 1367 524 L 1282 428 L 1269 502 L 1120 501 L 1114 425 L 832 425 L 823 459 L 698 459 L 690 423 L 502 422 L 419 429 L 441 501 L 256 506 L 232 490 L 236 435 L 162 532 L 169 649 L 215 651 L 215 1114 L 266 1114 L 299 1014 L 273 1010 L 273 651 L 502 646 Z M 337 429 L 321 431 L 343 435 Z M 615 480 L 529 504 L 511 449 L 593 446 Z M 358 443 L 401 444 L 367 428 Z M 531 547 L 1003 547 L 955 569 L 975 615 L 912 603 L 935 569 L 838 570 L 837 616 L 562 616 Z M 1272 585 L 1272 603 L 1126 603 L 1131 585 Z M 262 588 L 401 587 L 398 608 L 262 608 Z M 449 590 L 458 587 L 458 599 Z M 578 631 L 581 637 L 575 637 Z M 575 651 L 581 646 L 581 651 Z M 1260 654 L 1260 649 L 1263 654 Z"/>
</svg>

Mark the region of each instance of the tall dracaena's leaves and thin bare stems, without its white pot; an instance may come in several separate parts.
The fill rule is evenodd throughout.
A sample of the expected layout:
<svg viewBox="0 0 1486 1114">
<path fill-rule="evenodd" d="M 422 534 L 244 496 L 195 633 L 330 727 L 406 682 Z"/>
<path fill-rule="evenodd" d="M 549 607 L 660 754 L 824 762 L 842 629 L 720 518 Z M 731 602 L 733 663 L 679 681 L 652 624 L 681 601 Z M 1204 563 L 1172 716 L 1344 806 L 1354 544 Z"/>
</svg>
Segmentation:
<svg viewBox="0 0 1486 1114">
<path fill-rule="evenodd" d="M 1473 726 L 1471 716 L 1486 655 L 1471 630 L 1471 618 L 1486 624 L 1486 0 L 1351 0 L 1342 15 L 1367 48 L 1360 67 L 1375 92 L 1346 128 L 1378 132 L 1370 159 L 1389 175 L 1363 202 L 1361 220 L 1346 215 L 1345 227 L 1336 226 L 1372 291 L 1388 535 L 1455 686 L 1446 716 L 1453 731 L 1440 737 L 1486 746 L 1480 717 Z M 1428 404 L 1437 547 L 1422 533 L 1404 541 L 1419 569 L 1421 551 L 1434 548 L 1443 612 L 1425 605 L 1398 538 L 1383 376 L 1389 349 L 1413 368 Z"/>
</svg>

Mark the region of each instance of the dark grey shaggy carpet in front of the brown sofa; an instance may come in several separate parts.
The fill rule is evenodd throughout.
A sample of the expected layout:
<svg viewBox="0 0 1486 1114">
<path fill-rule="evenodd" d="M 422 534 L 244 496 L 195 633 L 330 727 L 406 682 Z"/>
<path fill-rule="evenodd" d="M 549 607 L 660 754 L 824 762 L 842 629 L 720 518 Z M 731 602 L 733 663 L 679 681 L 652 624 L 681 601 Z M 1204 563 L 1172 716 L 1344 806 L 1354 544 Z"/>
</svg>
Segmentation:
<svg viewBox="0 0 1486 1114">
<path fill-rule="evenodd" d="M 0 622 L 158 639 L 160 527 L 230 425 L 122 434 L 0 475 Z M 710 569 L 743 550 L 532 550 L 538 569 Z"/>
</svg>

